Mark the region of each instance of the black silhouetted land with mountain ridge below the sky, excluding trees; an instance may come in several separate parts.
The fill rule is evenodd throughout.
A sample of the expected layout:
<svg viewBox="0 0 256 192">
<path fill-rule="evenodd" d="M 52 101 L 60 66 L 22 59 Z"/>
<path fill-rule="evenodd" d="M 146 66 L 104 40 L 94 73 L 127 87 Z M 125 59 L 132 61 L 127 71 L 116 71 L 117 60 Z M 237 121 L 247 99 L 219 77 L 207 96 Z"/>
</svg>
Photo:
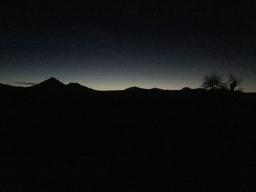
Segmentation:
<svg viewBox="0 0 256 192">
<path fill-rule="evenodd" d="M 0 84 L 0 191 L 254 191 L 256 94 Z"/>
</svg>

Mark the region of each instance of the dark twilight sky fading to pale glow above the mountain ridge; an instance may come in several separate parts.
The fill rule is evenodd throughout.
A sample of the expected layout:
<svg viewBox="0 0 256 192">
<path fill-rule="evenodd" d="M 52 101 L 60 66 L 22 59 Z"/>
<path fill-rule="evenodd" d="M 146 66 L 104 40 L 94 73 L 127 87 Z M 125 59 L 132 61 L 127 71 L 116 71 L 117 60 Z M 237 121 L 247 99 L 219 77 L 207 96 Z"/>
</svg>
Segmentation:
<svg viewBox="0 0 256 192">
<path fill-rule="evenodd" d="M 217 72 L 256 92 L 255 10 L 249 0 L 1 1 L 0 82 L 181 89 Z"/>
</svg>

